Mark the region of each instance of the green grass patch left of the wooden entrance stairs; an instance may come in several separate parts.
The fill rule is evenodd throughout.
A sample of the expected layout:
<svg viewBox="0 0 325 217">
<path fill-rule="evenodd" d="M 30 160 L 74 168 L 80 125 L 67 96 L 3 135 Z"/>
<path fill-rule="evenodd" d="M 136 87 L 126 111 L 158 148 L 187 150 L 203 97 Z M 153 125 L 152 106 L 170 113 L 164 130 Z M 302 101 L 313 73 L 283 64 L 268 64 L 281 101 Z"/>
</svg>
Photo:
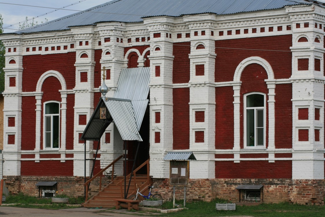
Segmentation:
<svg viewBox="0 0 325 217">
<path fill-rule="evenodd" d="M 82 197 L 69 197 L 69 204 L 82 204 L 84 202 L 84 198 Z M 74 208 L 68 206 L 66 203 L 52 203 L 51 198 L 40 198 L 24 195 L 23 193 L 19 193 L 17 195 L 8 195 L 6 196 L 6 201 L 2 202 L 3 204 L 14 204 L 11 206 L 22 207 L 22 208 L 41 208 L 41 209 L 67 209 Z"/>
</svg>

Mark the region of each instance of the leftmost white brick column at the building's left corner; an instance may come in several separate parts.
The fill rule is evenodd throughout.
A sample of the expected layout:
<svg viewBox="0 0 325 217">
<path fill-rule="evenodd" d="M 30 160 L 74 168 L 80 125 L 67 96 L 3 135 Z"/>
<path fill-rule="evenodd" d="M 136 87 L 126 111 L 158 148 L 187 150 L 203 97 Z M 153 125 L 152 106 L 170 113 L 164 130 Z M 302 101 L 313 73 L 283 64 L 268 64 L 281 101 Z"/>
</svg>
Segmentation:
<svg viewBox="0 0 325 217">
<path fill-rule="evenodd" d="M 21 154 L 21 100 L 22 100 L 22 56 L 23 42 L 20 35 L 3 35 L 6 68 L 3 130 L 3 175 L 20 175 Z M 14 126 L 8 126 L 8 119 L 14 119 Z"/>
</svg>

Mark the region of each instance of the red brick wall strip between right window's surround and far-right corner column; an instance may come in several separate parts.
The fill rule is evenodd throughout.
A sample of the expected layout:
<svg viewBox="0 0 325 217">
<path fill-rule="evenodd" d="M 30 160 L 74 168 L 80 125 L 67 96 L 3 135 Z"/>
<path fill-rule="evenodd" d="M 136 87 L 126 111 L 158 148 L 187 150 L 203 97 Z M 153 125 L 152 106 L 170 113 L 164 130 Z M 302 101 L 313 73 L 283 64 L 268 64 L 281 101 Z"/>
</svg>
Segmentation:
<svg viewBox="0 0 325 217">
<path fill-rule="evenodd" d="M 275 87 L 275 148 L 292 148 L 292 84 Z"/>
</svg>

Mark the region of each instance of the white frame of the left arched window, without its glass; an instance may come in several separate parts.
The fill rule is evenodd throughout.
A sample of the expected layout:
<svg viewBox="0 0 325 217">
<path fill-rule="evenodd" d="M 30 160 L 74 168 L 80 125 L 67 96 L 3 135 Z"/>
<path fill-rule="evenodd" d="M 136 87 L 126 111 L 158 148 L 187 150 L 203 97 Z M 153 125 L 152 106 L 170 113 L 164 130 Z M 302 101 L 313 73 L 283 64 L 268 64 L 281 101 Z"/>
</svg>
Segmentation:
<svg viewBox="0 0 325 217">
<path fill-rule="evenodd" d="M 45 114 L 45 107 L 46 107 L 46 104 L 48 103 L 51 103 L 51 102 L 54 102 L 54 103 L 58 103 L 59 104 L 59 114 Z M 47 102 L 44 102 L 43 104 L 43 149 L 46 149 L 46 150 L 59 150 L 60 148 L 60 108 L 61 108 L 61 105 L 60 105 L 60 102 L 59 101 L 47 101 Z M 53 148 L 53 140 L 51 139 L 51 147 L 46 147 L 46 117 L 51 117 L 51 138 L 53 138 L 53 116 L 59 116 L 59 138 L 58 138 L 58 142 L 59 142 L 59 145 L 57 148 Z"/>
</svg>

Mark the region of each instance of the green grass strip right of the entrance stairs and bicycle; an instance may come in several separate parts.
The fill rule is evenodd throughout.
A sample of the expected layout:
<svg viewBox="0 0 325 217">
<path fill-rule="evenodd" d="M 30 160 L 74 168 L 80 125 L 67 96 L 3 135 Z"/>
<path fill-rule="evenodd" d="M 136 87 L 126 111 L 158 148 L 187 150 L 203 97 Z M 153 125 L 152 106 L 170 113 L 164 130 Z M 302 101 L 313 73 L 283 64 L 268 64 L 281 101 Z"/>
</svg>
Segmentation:
<svg viewBox="0 0 325 217">
<path fill-rule="evenodd" d="M 191 202 L 186 204 L 188 210 L 175 213 L 159 214 L 161 217 L 177 216 L 200 216 L 200 217 L 217 217 L 217 216 L 254 216 L 254 217 L 324 217 L 325 206 L 306 206 L 291 203 L 279 204 L 260 204 L 257 206 L 236 206 L 236 210 L 216 210 L 215 204 L 221 202 L 215 199 L 212 202 Z M 183 204 L 183 200 L 176 201 L 177 204 Z M 161 209 L 172 209 L 173 202 L 167 201 Z M 154 216 L 155 214 L 152 213 Z"/>
</svg>

